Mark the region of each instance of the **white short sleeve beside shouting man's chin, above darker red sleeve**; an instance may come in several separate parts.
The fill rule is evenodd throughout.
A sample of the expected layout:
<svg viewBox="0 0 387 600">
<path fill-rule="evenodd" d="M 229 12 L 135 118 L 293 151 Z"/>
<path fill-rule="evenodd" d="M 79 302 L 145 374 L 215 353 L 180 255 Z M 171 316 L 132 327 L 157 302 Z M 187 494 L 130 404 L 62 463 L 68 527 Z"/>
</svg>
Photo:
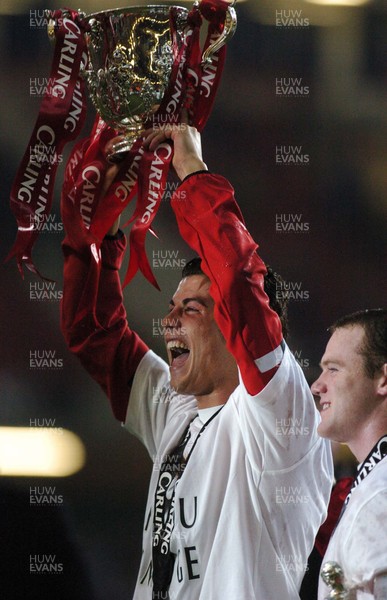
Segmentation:
<svg viewBox="0 0 387 600">
<path fill-rule="evenodd" d="M 192 396 L 176 394 L 171 388 L 167 363 L 149 350 L 133 379 L 125 427 L 138 437 L 154 458 L 168 421 L 195 407 Z"/>
</svg>

